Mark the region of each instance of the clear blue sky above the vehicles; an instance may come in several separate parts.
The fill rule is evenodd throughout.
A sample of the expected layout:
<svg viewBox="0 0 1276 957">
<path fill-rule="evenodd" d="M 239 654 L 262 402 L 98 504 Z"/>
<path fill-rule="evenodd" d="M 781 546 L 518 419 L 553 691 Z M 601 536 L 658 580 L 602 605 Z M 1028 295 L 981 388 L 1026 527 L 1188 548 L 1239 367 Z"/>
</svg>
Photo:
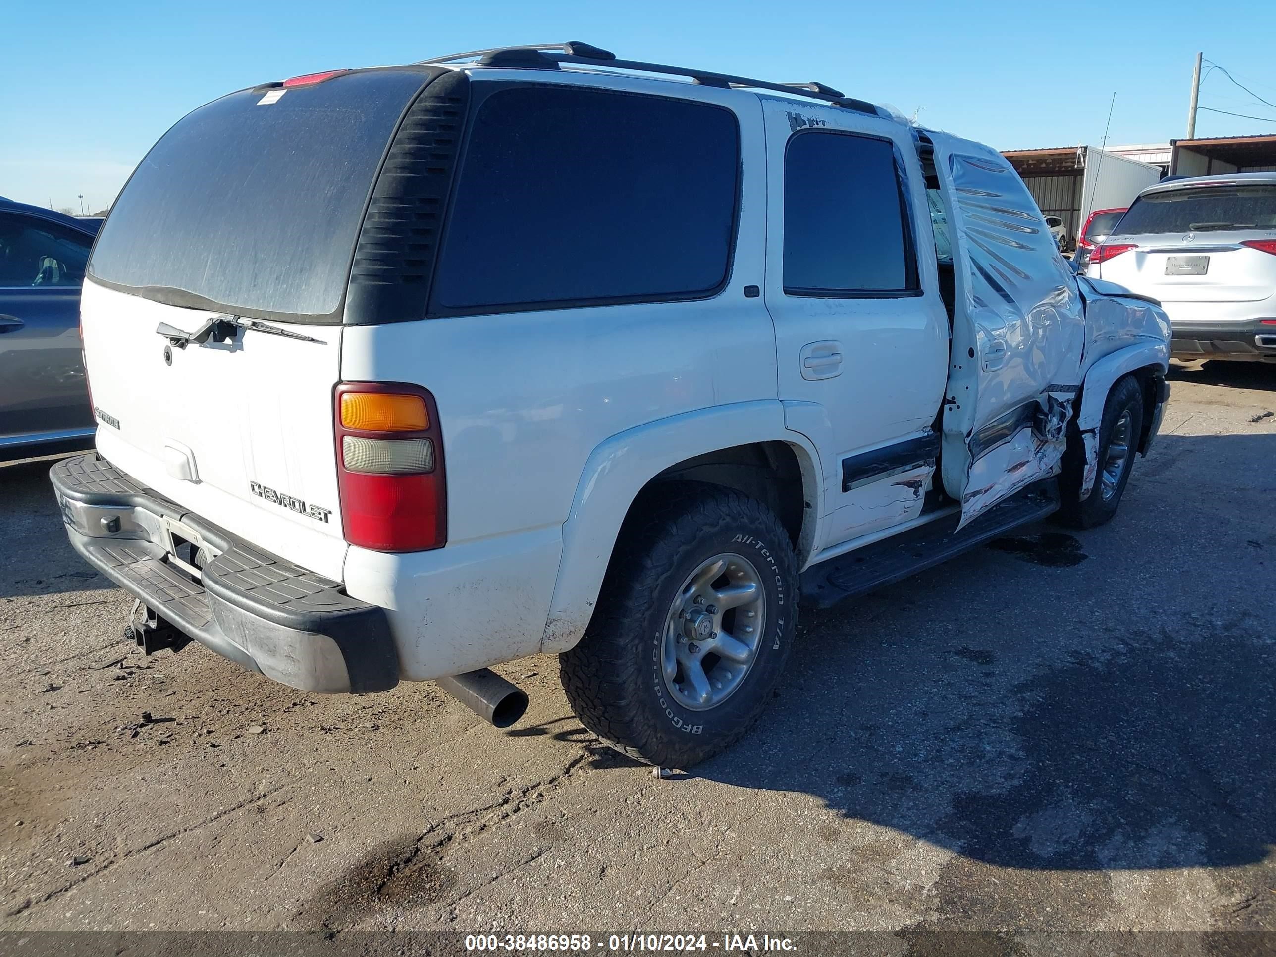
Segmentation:
<svg viewBox="0 0 1276 957">
<path fill-rule="evenodd" d="M 1215 13 L 1217 11 L 1217 14 Z M 52 20 L 50 20 L 52 18 Z M 300 73 L 501 43 L 584 40 L 632 59 L 818 79 L 1000 149 L 1183 137 L 1192 59 L 1276 103 L 1276 3 L 4 4 L 0 195 L 106 205 L 149 145 L 222 93 Z M 14 38 L 20 37 L 20 43 Z M 1197 135 L 1276 131 L 1276 108 L 1206 77 Z"/>
</svg>

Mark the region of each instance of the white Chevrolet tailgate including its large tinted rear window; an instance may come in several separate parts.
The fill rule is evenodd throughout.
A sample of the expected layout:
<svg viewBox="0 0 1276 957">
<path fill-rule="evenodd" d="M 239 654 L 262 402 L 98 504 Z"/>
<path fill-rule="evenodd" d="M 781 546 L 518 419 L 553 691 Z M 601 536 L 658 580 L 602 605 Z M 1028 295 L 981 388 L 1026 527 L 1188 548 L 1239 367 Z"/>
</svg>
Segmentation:
<svg viewBox="0 0 1276 957">
<path fill-rule="evenodd" d="M 430 75 L 365 70 L 200 107 L 125 186 L 84 287 L 100 452 L 336 579 L 332 410 L 351 262 L 387 147 Z"/>
</svg>

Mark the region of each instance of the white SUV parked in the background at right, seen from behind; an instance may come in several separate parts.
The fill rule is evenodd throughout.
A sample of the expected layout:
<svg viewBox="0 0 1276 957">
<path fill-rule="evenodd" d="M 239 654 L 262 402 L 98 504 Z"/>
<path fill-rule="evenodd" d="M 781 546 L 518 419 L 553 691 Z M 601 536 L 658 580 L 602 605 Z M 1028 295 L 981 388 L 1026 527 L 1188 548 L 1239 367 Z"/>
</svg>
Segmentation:
<svg viewBox="0 0 1276 957">
<path fill-rule="evenodd" d="M 1087 272 L 1157 299 L 1175 357 L 1276 362 L 1276 172 L 1145 189 Z"/>
</svg>

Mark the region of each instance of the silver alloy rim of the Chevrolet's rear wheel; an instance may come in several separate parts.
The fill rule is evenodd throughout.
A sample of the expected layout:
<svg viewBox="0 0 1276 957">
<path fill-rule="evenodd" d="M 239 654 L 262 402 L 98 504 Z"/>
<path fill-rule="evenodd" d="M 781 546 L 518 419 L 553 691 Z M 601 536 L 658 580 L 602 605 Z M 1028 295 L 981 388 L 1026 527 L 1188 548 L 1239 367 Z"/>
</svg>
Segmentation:
<svg viewBox="0 0 1276 957">
<path fill-rule="evenodd" d="M 665 623 L 665 688 L 688 711 L 708 711 L 730 698 L 758 657 L 767 620 L 757 567 L 722 553 L 683 582 Z"/>
</svg>

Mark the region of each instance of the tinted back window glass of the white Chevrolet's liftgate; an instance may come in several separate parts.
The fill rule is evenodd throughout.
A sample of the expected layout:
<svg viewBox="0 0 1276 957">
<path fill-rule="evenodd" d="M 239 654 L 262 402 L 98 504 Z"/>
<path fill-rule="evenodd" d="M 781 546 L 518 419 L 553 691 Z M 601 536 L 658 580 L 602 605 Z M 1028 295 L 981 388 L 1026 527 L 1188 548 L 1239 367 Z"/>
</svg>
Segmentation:
<svg viewBox="0 0 1276 957">
<path fill-rule="evenodd" d="M 89 276 L 171 305 L 339 322 L 369 190 L 425 79 L 370 70 L 202 106 L 133 174 Z"/>
</svg>

